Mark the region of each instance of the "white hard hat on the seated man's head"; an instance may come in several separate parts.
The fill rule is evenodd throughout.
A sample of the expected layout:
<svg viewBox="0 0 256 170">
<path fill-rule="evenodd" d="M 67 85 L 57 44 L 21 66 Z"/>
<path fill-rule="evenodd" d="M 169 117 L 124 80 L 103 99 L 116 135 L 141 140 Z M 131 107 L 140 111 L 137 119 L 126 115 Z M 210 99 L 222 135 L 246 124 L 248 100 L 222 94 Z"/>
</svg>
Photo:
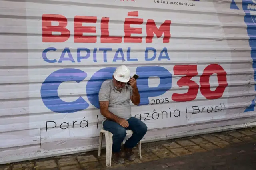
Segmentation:
<svg viewBox="0 0 256 170">
<path fill-rule="evenodd" d="M 117 67 L 113 75 L 117 81 L 123 83 L 127 83 L 130 80 L 130 70 L 125 65 Z"/>
</svg>

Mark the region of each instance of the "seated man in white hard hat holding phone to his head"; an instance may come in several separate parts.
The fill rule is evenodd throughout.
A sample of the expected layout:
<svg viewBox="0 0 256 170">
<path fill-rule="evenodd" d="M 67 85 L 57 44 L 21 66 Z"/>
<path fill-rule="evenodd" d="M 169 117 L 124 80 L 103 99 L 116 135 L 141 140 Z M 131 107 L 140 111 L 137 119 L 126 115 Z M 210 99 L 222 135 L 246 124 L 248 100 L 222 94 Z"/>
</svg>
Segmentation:
<svg viewBox="0 0 256 170">
<path fill-rule="evenodd" d="M 128 82 L 130 85 L 127 84 Z M 138 105 L 140 94 L 136 80 L 133 77 L 130 78 L 130 70 L 122 65 L 116 68 L 113 80 L 102 85 L 99 92 L 103 128 L 113 134 L 112 158 L 117 164 L 124 164 L 120 150 L 126 130 L 133 131 L 132 136 L 124 144 L 125 157 L 130 161 L 135 160 L 132 148 L 138 144 L 148 130 L 145 123 L 132 117 L 130 100 L 134 105 Z"/>
</svg>

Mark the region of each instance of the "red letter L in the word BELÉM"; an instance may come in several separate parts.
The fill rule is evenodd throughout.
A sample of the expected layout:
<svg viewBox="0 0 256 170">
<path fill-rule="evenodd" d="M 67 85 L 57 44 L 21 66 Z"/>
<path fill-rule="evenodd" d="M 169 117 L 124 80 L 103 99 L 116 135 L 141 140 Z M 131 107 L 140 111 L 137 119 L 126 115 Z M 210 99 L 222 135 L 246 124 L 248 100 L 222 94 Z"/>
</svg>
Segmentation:
<svg viewBox="0 0 256 170">
<path fill-rule="evenodd" d="M 101 24 L 100 24 L 100 30 L 101 30 L 100 42 L 101 43 L 122 43 L 122 37 L 109 36 L 108 23 L 109 23 L 109 18 L 102 17 Z"/>
</svg>

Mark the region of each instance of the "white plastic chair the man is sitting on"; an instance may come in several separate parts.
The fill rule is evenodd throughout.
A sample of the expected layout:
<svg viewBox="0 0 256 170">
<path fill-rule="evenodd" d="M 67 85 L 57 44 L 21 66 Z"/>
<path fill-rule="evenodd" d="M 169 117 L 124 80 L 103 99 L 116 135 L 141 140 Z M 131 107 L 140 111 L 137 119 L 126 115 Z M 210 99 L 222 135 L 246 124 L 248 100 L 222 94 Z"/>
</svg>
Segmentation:
<svg viewBox="0 0 256 170">
<path fill-rule="evenodd" d="M 98 156 L 100 156 L 100 154 L 101 154 L 103 134 L 105 135 L 105 138 L 106 138 L 106 166 L 110 167 L 111 166 L 111 158 L 112 158 L 113 134 L 104 129 L 100 130 Z M 130 136 L 132 134 L 133 134 L 132 130 L 126 130 L 126 137 Z M 125 142 L 125 140 L 127 140 L 127 139 L 125 138 L 123 143 Z M 141 158 L 142 157 L 141 156 L 141 142 L 138 143 L 138 150 L 139 150 L 139 154 L 140 154 L 140 158 Z"/>
</svg>

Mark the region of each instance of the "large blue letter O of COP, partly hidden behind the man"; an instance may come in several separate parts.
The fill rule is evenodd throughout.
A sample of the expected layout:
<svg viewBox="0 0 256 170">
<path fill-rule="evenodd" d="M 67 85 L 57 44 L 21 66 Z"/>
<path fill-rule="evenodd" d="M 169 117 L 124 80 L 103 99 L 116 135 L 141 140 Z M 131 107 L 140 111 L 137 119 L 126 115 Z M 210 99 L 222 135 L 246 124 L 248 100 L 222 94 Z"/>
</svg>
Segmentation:
<svg viewBox="0 0 256 170">
<path fill-rule="evenodd" d="M 113 73 L 116 70 L 116 67 L 106 67 L 100 69 L 94 75 L 92 75 L 91 79 L 88 81 L 86 85 L 86 94 L 87 98 L 92 105 L 96 108 L 100 108 L 99 104 L 99 91 L 102 86 L 102 83 L 108 79 L 113 78 Z"/>
</svg>

